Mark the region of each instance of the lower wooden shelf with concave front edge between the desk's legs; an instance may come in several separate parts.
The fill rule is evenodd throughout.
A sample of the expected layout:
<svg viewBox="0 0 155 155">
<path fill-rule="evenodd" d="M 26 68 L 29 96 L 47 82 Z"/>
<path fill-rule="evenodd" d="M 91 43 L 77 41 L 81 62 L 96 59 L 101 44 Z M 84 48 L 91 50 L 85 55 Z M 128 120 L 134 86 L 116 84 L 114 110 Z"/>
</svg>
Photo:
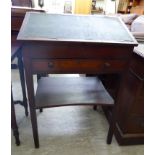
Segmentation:
<svg viewBox="0 0 155 155">
<path fill-rule="evenodd" d="M 114 100 L 96 77 L 44 77 L 38 81 L 36 108 L 69 105 L 113 106 Z"/>
</svg>

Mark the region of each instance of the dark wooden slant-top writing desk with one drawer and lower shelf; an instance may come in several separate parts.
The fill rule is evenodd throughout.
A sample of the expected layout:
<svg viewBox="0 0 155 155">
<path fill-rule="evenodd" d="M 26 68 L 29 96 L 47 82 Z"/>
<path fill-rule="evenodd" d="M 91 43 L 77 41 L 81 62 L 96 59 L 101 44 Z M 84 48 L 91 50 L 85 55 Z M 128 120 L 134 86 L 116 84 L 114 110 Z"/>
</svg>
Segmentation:
<svg viewBox="0 0 155 155">
<path fill-rule="evenodd" d="M 74 79 L 71 82 L 68 80 L 62 81 L 66 79 L 58 79 L 58 82 L 56 82 L 57 80 L 54 79 L 53 89 L 48 84 L 48 80 L 41 80 L 41 84 L 38 87 L 42 87 L 41 85 L 44 84 L 46 88 L 42 90 L 43 92 L 39 90 L 35 95 L 33 74 L 118 73 L 121 76 L 121 80 L 115 101 L 116 107 L 121 102 L 119 94 L 123 87 L 123 78 L 129 66 L 133 48 L 137 45 L 137 42 L 119 18 L 30 12 L 25 16 L 17 39 L 23 42 L 22 52 L 36 147 L 39 147 L 39 140 L 35 109 L 64 105 L 91 105 L 94 103 L 102 105 L 102 103 L 100 97 L 92 101 L 92 96 L 88 93 L 82 98 L 78 98 L 79 96 L 76 96 L 76 98 L 74 96 L 76 89 L 74 90 L 74 87 L 72 87 L 72 84 L 76 84 Z M 85 82 L 85 79 L 82 79 L 81 83 L 83 81 Z M 56 85 L 54 84 L 55 82 L 57 83 Z M 66 91 L 65 86 L 68 87 L 66 88 L 67 91 L 71 89 L 70 93 L 73 92 L 72 95 L 66 98 L 64 93 Z M 87 82 L 85 86 L 87 87 Z M 49 92 L 46 92 L 48 90 L 61 95 L 54 94 L 54 97 L 50 96 Z M 62 92 L 63 90 L 64 92 Z M 85 90 L 89 92 L 89 88 L 88 90 L 85 88 Z M 42 98 L 39 98 L 39 93 L 45 94 Z M 46 96 L 47 94 L 50 96 L 48 96 L 50 101 Z M 57 98 L 56 95 L 58 95 Z M 61 105 L 59 103 L 60 98 L 63 98 Z M 52 99 L 53 104 L 51 104 Z"/>
</svg>

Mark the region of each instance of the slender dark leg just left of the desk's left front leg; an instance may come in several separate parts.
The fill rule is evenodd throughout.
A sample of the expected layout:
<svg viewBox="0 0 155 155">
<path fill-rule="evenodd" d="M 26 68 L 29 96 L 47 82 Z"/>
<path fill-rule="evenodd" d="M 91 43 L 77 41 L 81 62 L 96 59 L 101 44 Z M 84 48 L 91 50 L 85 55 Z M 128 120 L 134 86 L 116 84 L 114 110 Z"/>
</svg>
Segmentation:
<svg viewBox="0 0 155 155">
<path fill-rule="evenodd" d="M 23 66 L 21 52 L 19 52 L 19 55 L 18 55 L 18 67 L 19 67 L 20 82 L 21 82 L 21 88 L 22 88 L 22 94 L 23 94 L 23 106 L 25 108 L 25 115 L 28 116 L 28 104 L 27 104 L 26 88 L 25 88 L 24 66 Z"/>
</svg>

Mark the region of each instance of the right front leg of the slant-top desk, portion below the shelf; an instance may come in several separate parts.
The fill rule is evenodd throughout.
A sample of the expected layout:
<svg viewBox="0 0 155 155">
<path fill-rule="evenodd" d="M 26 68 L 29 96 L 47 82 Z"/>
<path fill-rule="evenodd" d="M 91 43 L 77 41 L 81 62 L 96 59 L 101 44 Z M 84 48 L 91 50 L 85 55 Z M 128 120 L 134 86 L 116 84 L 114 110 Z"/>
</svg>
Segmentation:
<svg viewBox="0 0 155 155">
<path fill-rule="evenodd" d="M 112 142 L 112 137 L 115 131 L 115 126 L 116 126 L 116 112 L 115 112 L 115 108 L 113 108 L 112 110 L 112 117 L 110 120 L 110 126 L 109 126 L 109 131 L 108 131 L 108 135 L 107 135 L 107 144 L 111 144 Z"/>
</svg>

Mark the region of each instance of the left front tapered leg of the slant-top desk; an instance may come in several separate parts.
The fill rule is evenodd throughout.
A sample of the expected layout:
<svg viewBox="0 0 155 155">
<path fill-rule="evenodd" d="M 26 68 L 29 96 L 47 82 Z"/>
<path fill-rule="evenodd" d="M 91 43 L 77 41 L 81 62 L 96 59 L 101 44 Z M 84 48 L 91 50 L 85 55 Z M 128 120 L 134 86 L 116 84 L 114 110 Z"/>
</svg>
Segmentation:
<svg viewBox="0 0 155 155">
<path fill-rule="evenodd" d="M 29 100 L 29 107 L 30 107 L 33 138 L 34 138 L 35 148 L 39 148 L 38 125 L 37 125 L 35 98 L 34 98 L 33 74 L 31 72 L 30 64 L 31 64 L 30 58 L 24 57 L 24 66 L 25 66 L 25 75 L 26 75 L 26 84 L 27 84 L 27 93 L 28 93 L 28 100 Z"/>
</svg>

